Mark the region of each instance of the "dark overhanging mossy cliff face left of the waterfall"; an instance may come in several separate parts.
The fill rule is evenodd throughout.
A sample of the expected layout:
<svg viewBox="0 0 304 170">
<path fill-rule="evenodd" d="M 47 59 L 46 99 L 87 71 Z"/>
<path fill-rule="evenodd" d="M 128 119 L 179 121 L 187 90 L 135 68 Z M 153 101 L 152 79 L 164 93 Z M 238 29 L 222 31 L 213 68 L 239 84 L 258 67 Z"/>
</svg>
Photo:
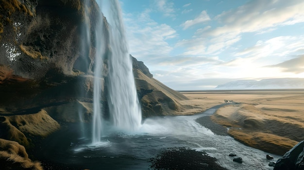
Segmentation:
<svg viewBox="0 0 304 170">
<path fill-rule="evenodd" d="M 0 104 L 90 100 L 98 14 L 95 0 L 0 0 Z"/>
</svg>

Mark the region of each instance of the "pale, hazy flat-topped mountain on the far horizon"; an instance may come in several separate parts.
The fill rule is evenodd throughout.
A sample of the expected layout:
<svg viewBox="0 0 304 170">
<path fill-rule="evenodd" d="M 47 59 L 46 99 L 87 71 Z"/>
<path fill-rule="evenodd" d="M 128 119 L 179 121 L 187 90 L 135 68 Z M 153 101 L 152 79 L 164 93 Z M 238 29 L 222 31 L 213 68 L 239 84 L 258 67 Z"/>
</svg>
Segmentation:
<svg viewBox="0 0 304 170">
<path fill-rule="evenodd" d="M 237 80 L 218 85 L 215 89 L 304 89 L 304 78 L 270 78 Z"/>
</svg>

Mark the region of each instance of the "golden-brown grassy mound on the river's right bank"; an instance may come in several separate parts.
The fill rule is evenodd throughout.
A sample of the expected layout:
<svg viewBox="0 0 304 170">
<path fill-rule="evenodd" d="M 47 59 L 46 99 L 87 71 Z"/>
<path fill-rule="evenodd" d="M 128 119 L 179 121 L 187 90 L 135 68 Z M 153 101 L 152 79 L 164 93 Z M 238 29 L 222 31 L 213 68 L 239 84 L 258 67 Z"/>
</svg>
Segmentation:
<svg viewBox="0 0 304 170">
<path fill-rule="evenodd" d="M 219 108 L 211 119 L 229 127 L 228 133 L 240 142 L 284 155 L 304 140 L 304 124 L 296 118 L 295 112 L 287 107 L 239 104 Z"/>
</svg>

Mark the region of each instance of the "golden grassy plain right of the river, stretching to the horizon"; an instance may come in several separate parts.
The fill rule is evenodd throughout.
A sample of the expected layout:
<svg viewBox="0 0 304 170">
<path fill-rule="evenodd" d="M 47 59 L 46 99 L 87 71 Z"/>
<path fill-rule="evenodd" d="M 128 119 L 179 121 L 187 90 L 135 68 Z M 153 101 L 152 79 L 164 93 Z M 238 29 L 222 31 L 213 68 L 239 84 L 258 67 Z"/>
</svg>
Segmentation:
<svg viewBox="0 0 304 170">
<path fill-rule="evenodd" d="M 284 155 L 304 140 L 304 90 L 183 94 L 190 99 L 184 103 L 203 109 L 223 104 L 225 99 L 236 102 L 219 108 L 210 119 L 251 147 Z"/>
</svg>

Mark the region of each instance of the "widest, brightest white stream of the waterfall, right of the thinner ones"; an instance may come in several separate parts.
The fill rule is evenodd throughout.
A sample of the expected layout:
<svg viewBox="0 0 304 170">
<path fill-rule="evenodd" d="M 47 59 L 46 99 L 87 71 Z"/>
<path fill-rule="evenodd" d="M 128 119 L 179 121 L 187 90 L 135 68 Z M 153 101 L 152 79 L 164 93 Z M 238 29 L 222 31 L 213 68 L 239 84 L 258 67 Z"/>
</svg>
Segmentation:
<svg viewBox="0 0 304 170">
<path fill-rule="evenodd" d="M 129 56 L 121 9 L 118 0 L 109 0 L 108 22 L 111 25 L 109 43 L 108 103 L 111 121 L 119 129 L 135 131 L 141 124 L 132 61 Z"/>
</svg>

